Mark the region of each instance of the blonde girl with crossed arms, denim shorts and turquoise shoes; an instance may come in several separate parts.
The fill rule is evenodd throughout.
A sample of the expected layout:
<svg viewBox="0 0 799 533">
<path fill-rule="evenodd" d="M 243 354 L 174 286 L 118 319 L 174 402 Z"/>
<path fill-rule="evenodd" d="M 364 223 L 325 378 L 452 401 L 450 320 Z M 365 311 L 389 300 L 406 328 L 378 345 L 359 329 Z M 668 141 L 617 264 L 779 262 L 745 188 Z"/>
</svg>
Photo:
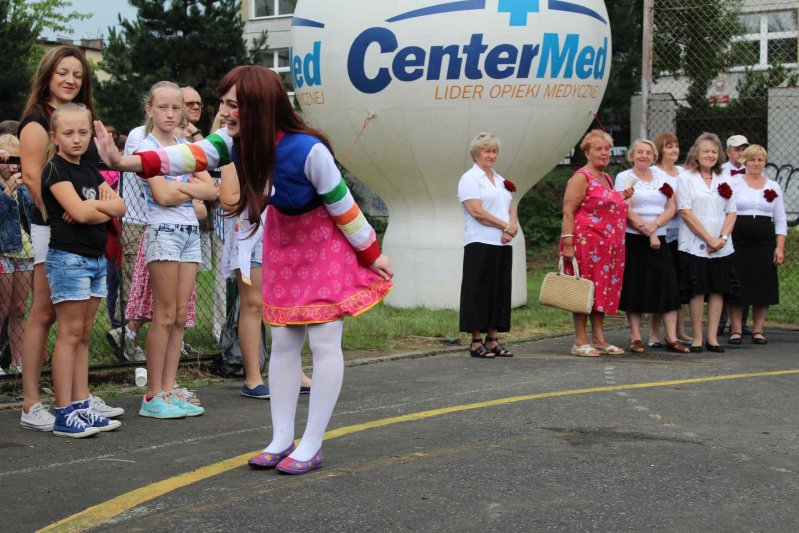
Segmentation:
<svg viewBox="0 0 799 533">
<path fill-rule="evenodd" d="M 185 143 L 173 130 L 183 118 L 183 93 L 172 82 L 158 82 L 145 102 L 147 123 L 139 150 Z M 192 200 L 216 200 L 216 183 L 207 172 L 156 176 L 146 182 L 147 230 L 144 237 L 153 294 L 147 333 L 147 393 L 139 415 L 150 418 L 198 416 L 204 409 L 175 389 L 187 308 L 202 262 L 200 228 Z"/>
</svg>

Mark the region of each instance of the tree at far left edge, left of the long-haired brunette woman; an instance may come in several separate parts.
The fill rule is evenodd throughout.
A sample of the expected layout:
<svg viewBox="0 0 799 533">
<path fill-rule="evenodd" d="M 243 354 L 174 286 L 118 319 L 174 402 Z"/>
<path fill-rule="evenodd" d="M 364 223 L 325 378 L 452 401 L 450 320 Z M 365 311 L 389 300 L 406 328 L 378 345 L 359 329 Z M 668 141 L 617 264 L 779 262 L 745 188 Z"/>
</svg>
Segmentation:
<svg viewBox="0 0 799 533">
<path fill-rule="evenodd" d="M 70 21 L 89 17 L 68 11 L 71 7 L 66 0 L 0 0 L 0 120 L 19 118 L 22 112 L 42 53 L 36 46 L 41 34 L 69 32 Z"/>
</svg>

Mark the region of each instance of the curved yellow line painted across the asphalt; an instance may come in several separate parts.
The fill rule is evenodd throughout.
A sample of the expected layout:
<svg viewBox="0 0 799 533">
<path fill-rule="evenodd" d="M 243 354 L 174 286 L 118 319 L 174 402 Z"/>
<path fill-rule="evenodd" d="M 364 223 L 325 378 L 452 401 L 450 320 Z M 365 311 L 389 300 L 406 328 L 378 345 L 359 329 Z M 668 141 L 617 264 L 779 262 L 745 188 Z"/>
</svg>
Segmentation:
<svg viewBox="0 0 799 533">
<path fill-rule="evenodd" d="M 343 437 L 345 435 L 352 435 L 368 429 L 375 429 L 393 424 L 400 424 L 403 422 L 414 422 L 417 420 L 424 420 L 426 418 L 433 418 L 436 416 L 448 415 L 452 413 L 460 413 L 463 411 L 472 411 L 474 409 L 484 409 L 486 407 L 494 407 L 498 405 L 509 405 L 512 403 L 526 402 L 529 400 L 540 400 L 544 398 L 557 398 L 561 396 L 577 396 L 581 394 L 593 394 L 597 392 L 613 392 L 634 389 L 652 389 L 657 387 L 672 387 L 675 385 L 690 385 L 692 383 L 709 383 L 713 381 L 729 381 L 733 379 L 748 379 L 760 378 L 770 376 L 789 376 L 799 374 L 799 369 L 793 370 L 775 370 L 772 372 L 754 372 L 750 374 L 728 374 L 724 376 L 711 376 L 705 378 L 689 378 L 689 379 L 676 379 L 672 381 L 653 381 L 649 383 L 630 383 L 627 385 L 608 385 L 604 387 L 590 387 L 587 389 L 570 389 L 562 391 L 541 392 L 538 394 L 525 394 L 523 396 L 511 396 L 508 398 L 498 398 L 496 400 L 488 400 L 485 402 L 467 403 L 462 405 L 454 405 L 452 407 L 443 407 L 441 409 L 432 409 L 430 411 L 419 411 L 417 413 L 409 413 L 407 415 L 394 416 L 390 418 L 382 418 L 379 420 L 372 420 L 364 422 L 363 424 L 354 424 L 343 428 L 332 429 L 325 433 L 325 440 Z M 260 450 L 259 450 L 260 451 Z M 169 492 L 186 487 L 198 481 L 208 479 L 219 474 L 223 474 L 234 468 L 239 468 L 247 464 L 247 459 L 258 451 L 245 453 L 225 461 L 214 463 L 185 474 L 180 474 L 157 483 L 152 483 L 146 487 L 130 491 L 121 496 L 117 496 L 107 502 L 95 505 L 84 509 L 80 513 L 59 520 L 49 526 L 40 529 L 39 531 L 85 531 L 92 527 L 104 524 L 113 517 L 124 513 L 125 511 L 146 503 L 152 499 L 163 496 Z"/>
</svg>

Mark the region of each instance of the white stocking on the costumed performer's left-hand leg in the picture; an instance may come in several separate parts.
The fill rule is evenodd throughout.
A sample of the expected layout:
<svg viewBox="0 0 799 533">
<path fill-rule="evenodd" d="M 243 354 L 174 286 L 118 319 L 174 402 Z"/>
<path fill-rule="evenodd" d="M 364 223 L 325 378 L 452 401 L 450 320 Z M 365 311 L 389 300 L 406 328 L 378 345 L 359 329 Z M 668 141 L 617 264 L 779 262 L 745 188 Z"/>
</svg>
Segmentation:
<svg viewBox="0 0 799 533">
<path fill-rule="evenodd" d="M 282 452 L 294 442 L 294 416 L 300 396 L 306 326 L 272 327 L 269 356 L 269 408 L 272 411 L 272 442 L 265 452 Z"/>
</svg>

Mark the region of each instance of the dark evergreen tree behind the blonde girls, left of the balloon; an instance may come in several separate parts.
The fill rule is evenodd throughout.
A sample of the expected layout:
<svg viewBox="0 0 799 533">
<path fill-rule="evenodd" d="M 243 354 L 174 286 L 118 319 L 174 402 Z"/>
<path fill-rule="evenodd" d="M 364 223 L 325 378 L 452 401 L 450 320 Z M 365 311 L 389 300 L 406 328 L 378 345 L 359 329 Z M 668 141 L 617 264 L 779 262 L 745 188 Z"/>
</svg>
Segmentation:
<svg viewBox="0 0 799 533">
<path fill-rule="evenodd" d="M 142 99 L 162 80 L 191 85 L 205 103 L 210 126 L 217 82 L 236 65 L 256 63 L 266 49 L 266 32 L 244 40 L 240 2 L 229 0 L 129 0 L 136 20 L 120 16 L 109 28 L 101 68 L 111 75 L 98 83 L 103 120 L 120 131 L 142 123 Z"/>
</svg>

